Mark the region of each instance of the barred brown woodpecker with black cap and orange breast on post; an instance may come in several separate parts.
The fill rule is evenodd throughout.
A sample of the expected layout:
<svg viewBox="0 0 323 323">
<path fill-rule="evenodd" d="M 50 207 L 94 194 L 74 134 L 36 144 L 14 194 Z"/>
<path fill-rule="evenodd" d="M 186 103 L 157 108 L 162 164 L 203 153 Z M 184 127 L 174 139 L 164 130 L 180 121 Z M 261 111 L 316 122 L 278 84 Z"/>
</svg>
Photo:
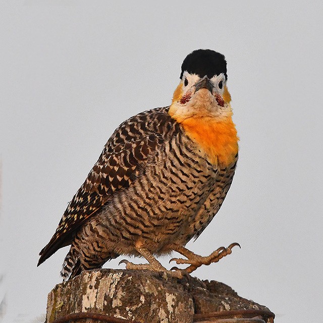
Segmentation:
<svg viewBox="0 0 323 323">
<path fill-rule="evenodd" d="M 147 260 L 120 261 L 126 269 L 182 278 L 240 246 L 232 243 L 209 256 L 185 247 L 217 214 L 233 181 L 239 138 L 227 80 L 223 54 L 190 52 L 171 104 L 129 118 L 106 142 L 40 251 L 38 265 L 71 245 L 61 271 L 64 281 L 120 255 Z M 167 270 L 158 261 L 173 251 L 183 258 L 170 262 L 187 264 L 185 269 Z"/>
</svg>

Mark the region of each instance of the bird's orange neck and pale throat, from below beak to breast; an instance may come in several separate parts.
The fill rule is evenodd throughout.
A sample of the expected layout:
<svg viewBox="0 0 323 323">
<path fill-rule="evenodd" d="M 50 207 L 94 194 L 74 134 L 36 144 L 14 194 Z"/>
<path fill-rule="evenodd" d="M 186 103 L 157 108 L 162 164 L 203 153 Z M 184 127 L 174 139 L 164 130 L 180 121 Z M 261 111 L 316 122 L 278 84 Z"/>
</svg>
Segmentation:
<svg viewBox="0 0 323 323">
<path fill-rule="evenodd" d="M 169 109 L 170 116 L 184 128 L 186 135 L 206 154 L 208 161 L 224 168 L 236 160 L 238 136 L 232 121 L 231 96 L 225 87 L 223 104 L 208 90 L 201 89 L 187 104 L 181 103 L 182 85 L 177 87 Z"/>
</svg>

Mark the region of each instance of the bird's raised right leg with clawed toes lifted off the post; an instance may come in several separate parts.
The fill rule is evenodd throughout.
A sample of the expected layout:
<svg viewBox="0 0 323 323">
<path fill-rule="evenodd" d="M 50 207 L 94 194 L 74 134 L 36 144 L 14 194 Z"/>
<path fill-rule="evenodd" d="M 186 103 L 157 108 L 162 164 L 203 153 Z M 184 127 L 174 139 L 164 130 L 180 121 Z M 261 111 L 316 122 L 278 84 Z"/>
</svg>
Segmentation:
<svg viewBox="0 0 323 323">
<path fill-rule="evenodd" d="M 185 271 L 187 273 L 192 273 L 193 271 L 196 270 L 196 268 L 200 267 L 202 264 L 210 264 L 212 262 L 218 262 L 221 258 L 225 257 L 226 255 L 230 254 L 232 252 L 232 248 L 234 246 L 239 246 L 239 243 L 232 243 L 228 248 L 225 247 L 220 247 L 218 248 L 216 251 L 213 251 L 209 256 L 206 257 L 202 257 L 199 256 L 197 254 L 195 254 L 194 252 L 186 249 L 183 246 L 179 246 L 179 245 L 172 245 L 172 249 L 174 251 L 177 251 L 178 253 L 182 254 L 183 256 L 185 256 L 187 259 L 182 259 L 182 258 L 172 258 L 170 260 L 171 261 L 176 261 L 177 264 L 190 264 L 190 266 L 188 266 Z M 176 267 L 173 267 L 176 268 Z M 172 269 L 173 269 L 172 268 Z"/>
</svg>

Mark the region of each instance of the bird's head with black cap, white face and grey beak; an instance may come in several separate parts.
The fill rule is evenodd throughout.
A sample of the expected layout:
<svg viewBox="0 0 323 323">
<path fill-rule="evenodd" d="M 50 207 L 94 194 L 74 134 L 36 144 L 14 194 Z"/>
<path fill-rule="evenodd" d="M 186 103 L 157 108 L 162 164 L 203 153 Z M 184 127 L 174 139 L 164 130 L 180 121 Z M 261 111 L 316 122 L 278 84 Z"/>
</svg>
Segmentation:
<svg viewBox="0 0 323 323">
<path fill-rule="evenodd" d="M 225 57 L 210 49 L 197 49 L 183 61 L 169 114 L 178 122 L 192 117 L 231 117 Z"/>
</svg>

